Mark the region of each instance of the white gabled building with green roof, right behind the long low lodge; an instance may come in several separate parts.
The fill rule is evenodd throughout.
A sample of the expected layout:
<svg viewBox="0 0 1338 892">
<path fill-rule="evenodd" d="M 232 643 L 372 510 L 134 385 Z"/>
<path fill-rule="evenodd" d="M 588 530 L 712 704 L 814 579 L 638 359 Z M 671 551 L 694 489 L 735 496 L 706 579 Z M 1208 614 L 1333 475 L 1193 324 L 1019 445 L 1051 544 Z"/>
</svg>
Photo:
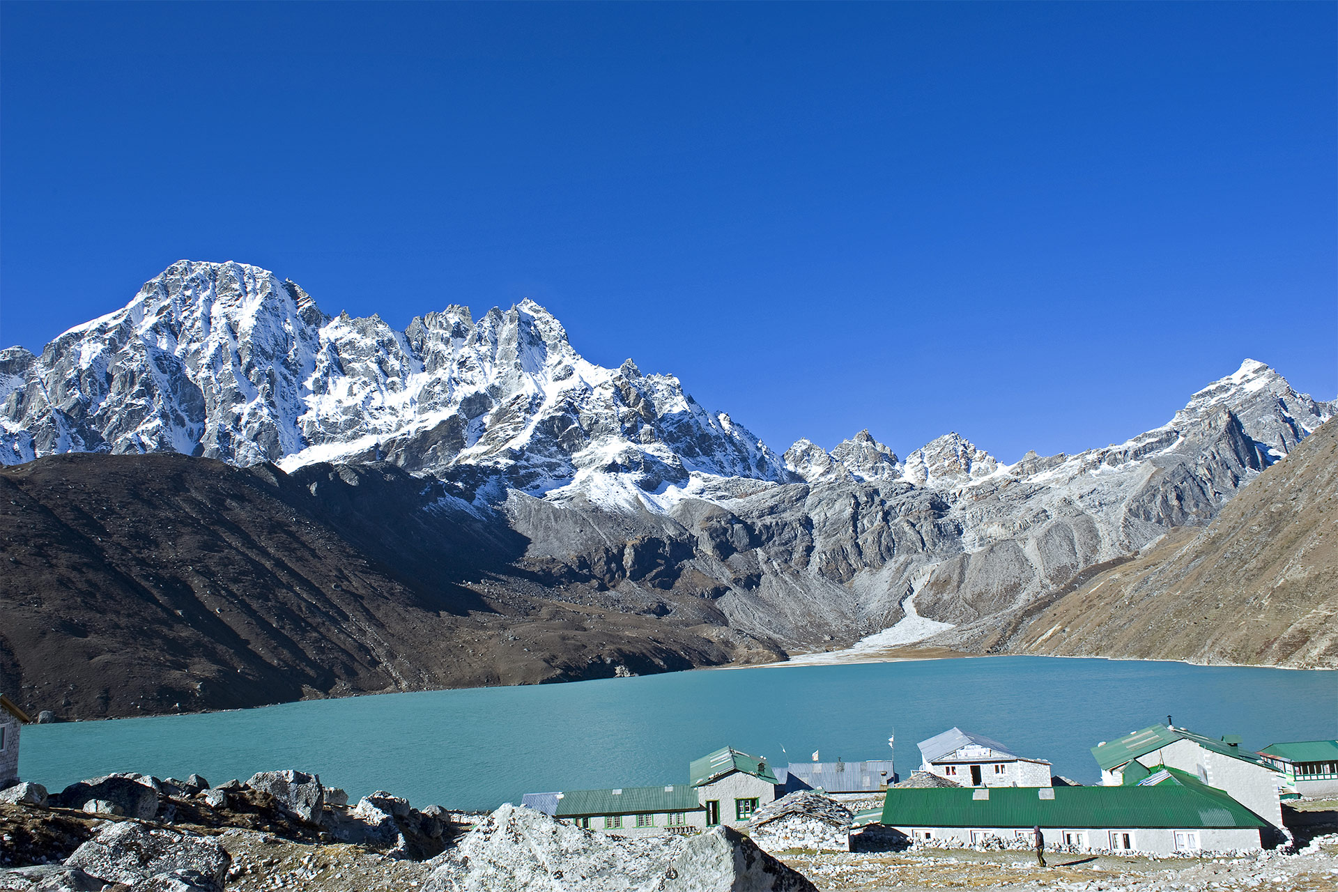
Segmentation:
<svg viewBox="0 0 1338 892">
<path fill-rule="evenodd" d="M 1092 748 L 1092 756 L 1101 766 L 1103 785 L 1125 785 L 1125 773 L 1141 780 L 1161 768 L 1175 768 L 1226 790 L 1267 821 L 1272 833 L 1282 829 L 1282 798 L 1295 794 L 1291 778 L 1230 734 L 1212 738 L 1185 728 L 1151 725 L 1103 741 Z"/>
</svg>

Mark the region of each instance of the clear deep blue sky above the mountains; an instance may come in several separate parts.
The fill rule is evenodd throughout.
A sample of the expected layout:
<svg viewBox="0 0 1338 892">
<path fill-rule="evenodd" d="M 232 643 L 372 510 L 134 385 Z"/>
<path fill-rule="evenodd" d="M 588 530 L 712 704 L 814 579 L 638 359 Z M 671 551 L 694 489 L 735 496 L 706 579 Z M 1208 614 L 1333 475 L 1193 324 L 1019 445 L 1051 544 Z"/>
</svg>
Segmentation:
<svg viewBox="0 0 1338 892">
<path fill-rule="evenodd" d="M 5 3 L 0 342 L 237 259 L 534 297 L 777 449 L 1076 452 L 1247 356 L 1333 399 L 1335 9 Z"/>
</svg>

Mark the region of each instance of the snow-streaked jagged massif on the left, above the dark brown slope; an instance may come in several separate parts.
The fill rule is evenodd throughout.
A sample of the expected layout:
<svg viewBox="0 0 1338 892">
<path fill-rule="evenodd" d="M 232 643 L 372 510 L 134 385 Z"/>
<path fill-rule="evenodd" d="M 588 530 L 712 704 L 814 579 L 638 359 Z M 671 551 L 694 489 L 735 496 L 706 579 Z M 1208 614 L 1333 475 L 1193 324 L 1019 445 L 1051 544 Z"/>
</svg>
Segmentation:
<svg viewBox="0 0 1338 892">
<path fill-rule="evenodd" d="M 673 376 L 581 358 L 538 304 L 415 318 L 325 316 L 293 282 L 181 261 L 40 357 L 0 356 L 0 461 L 173 451 L 249 465 L 385 457 L 486 468 L 547 492 L 613 475 L 654 492 L 693 473 L 785 481 L 765 445 Z"/>
</svg>

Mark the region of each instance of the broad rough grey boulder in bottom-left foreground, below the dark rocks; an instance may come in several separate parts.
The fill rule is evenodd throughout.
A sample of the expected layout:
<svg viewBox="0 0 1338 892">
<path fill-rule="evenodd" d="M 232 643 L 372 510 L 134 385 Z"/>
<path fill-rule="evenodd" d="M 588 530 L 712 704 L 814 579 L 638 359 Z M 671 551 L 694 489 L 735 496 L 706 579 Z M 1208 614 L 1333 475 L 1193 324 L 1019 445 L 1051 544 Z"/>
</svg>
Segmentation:
<svg viewBox="0 0 1338 892">
<path fill-rule="evenodd" d="M 107 883 L 124 883 L 136 889 L 139 883 L 155 880 L 161 875 L 175 875 L 178 879 L 189 876 L 190 883 L 199 889 L 221 892 L 231 861 L 227 851 L 209 837 L 119 821 L 103 828 L 75 849 L 66 859 L 66 867 L 80 868 Z"/>
</svg>

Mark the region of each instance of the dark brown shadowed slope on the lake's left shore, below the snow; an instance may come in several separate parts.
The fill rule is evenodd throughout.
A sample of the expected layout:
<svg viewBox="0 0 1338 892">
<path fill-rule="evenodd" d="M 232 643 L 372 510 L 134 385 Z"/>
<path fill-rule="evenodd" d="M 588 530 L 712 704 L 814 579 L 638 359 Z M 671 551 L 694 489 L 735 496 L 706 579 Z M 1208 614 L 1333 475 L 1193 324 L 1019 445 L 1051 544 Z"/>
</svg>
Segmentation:
<svg viewBox="0 0 1338 892">
<path fill-rule="evenodd" d="M 702 599 L 550 599 L 438 495 L 391 465 L 0 469 L 0 690 L 98 718 L 777 657 Z"/>
</svg>

